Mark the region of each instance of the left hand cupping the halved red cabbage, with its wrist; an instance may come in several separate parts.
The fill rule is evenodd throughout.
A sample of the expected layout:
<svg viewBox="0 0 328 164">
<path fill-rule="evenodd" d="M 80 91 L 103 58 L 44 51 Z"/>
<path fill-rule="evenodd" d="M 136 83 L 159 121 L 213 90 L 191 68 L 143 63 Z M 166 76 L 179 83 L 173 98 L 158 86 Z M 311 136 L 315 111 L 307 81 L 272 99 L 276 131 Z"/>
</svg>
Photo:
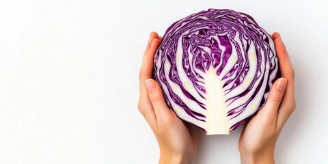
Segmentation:
<svg viewBox="0 0 328 164">
<path fill-rule="evenodd" d="M 152 78 L 154 54 L 162 38 L 152 32 L 143 54 L 139 74 L 140 96 L 138 109 L 148 122 L 159 143 L 159 163 L 191 163 L 196 149 L 196 139 L 191 128 L 169 109 L 161 87 Z"/>
</svg>

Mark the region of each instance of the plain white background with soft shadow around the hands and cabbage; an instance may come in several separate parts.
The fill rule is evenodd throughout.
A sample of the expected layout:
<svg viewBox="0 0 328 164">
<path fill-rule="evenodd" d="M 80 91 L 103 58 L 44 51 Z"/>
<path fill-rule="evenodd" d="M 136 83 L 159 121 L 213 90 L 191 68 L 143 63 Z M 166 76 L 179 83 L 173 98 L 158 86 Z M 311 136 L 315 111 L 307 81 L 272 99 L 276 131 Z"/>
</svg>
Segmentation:
<svg viewBox="0 0 328 164">
<path fill-rule="evenodd" d="M 327 1 L 0 1 L 0 163 L 156 163 L 137 110 L 150 31 L 208 8 L 279 31 L 296 71 L 297 109 L 277 163 L 327 163 Z M 197 131 L 195 163 L 240 163 L 238 137 Z"/>
</svg>

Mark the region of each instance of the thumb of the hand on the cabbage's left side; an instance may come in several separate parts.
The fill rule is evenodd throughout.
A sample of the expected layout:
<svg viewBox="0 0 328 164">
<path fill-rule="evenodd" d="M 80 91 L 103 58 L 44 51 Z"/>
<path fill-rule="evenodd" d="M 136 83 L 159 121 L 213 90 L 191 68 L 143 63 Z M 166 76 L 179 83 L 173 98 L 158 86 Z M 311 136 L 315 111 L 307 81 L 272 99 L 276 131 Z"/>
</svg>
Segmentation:
<svg viewBox="0 0 328 164">
<path fill-rule="evenodd" d="M 145 81 L 148 90 L 148 96 L 150 102 L 152 102 L 152 107 L 154 108 L 156 118 L 163 118 L 169 114 L 169 108 L 163 97 L 163 93 L 159 83 L 153 79 L 147 79 Z"/>
</svg>

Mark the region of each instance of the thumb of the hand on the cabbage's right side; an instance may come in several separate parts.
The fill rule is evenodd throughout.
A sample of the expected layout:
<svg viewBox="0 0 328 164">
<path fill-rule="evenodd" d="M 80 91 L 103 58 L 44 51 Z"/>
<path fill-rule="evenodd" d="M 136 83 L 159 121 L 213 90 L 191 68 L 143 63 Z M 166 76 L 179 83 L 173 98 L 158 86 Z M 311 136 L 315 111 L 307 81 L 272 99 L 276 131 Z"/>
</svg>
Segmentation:
<svg viewBox="0 0 328 164">
<path fill-rule="evenodd" d="M 264 105 L 264 113 L 268 115 L 268 117 L 277 118 L 277 111 L 279 109 L 280 102 L 282 102 L 282 97 L 284 96 L 284 92 L 287 85 L 287 79 L 279 78 L 273 84 L 271 88 L 269 98 Z"/>
</svg>

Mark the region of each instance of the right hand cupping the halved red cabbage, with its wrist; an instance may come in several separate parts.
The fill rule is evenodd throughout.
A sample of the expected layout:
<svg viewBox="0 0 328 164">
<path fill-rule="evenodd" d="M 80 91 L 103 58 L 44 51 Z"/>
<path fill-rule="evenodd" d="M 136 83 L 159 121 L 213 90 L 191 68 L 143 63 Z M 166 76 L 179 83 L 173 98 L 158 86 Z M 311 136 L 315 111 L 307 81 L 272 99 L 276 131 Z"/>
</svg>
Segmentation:
<svg viewBox="0 0 328 164">
<path fill-rule="evenodd" d="M 275 163 L 275 143 L 296 107 L 292 63 L 279 33 L 273 33 L 272 39 L 282 78 L 273 84 L 264 107 L 245 123 L 238 145 L 241 163 Z"/>
</svg>

